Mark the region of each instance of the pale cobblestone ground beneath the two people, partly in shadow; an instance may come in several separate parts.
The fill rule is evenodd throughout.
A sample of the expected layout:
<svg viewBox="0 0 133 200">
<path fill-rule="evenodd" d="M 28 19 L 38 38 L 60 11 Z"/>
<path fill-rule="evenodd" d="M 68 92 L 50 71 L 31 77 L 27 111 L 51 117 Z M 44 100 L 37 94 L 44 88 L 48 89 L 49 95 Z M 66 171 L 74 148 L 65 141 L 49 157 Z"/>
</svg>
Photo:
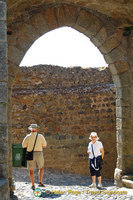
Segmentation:
<svg viewBox="0 0 133 200">
<path fill-rule="evenodd" d="M 41 189 L 39 193 L 33 194 L 28 170 L 25 168 L 14 168 L 13 176 L 16 190 L 11 200 L 133 200 L 133 189 L 117 188 L 113 181 L 103 180 L 102 190 L 89 188 L 91 178 L 71 173 L 55 172 L 45 170 L 45 187 L 38 187 L 38 171 L 35 171 L 35 187 Z"/>
</svg>

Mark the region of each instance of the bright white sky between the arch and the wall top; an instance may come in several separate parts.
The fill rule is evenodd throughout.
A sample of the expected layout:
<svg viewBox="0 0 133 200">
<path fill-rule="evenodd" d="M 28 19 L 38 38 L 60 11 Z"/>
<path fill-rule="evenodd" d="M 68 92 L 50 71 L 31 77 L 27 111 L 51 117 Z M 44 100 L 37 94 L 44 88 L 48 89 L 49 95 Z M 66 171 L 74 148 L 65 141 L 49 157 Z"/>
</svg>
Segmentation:
<svg viewBox="0 0 133 200">
<path fill-rule="evenodd" d="M 51 64 L 63 67 L 105 67 L 100 51 L 84 34 L 70 27 L 58 28 L 38 38 L 20 66 Z"/>
</svg>

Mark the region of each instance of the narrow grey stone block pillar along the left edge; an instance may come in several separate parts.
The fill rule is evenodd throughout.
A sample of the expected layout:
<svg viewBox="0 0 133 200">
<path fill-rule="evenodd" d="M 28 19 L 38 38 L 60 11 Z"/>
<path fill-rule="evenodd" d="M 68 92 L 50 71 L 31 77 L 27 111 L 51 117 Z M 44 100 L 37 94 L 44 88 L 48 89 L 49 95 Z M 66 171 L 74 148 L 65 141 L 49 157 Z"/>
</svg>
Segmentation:
<svg viewBox="0 0 133 200">
<path fill-rule="evenodd" d="M 9 199 L 8 146 L 8 65 L 6 38 L 6 2 L 0 0 L 0 199 Z"/>
</svg>

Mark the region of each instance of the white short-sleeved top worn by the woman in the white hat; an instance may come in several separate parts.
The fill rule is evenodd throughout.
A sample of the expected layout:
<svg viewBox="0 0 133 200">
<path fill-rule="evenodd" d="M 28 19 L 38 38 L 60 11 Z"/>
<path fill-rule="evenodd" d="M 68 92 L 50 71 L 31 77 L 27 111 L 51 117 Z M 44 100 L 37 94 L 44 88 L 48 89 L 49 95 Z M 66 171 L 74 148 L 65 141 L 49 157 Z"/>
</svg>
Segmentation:
<svg viewBox="0 0 133 200">
<path fill-rule="evenodd" d="M 103 144 L 100 141 L 96 141 L 94 144 L 92 142 L 89 143 L 88 145 L 88 151 L 91 152 L 89 154 L 89 158 L 93 158 L 93 153 L 92 153 L 92 145 L 93 145 L 93 151 L 94 151 L 94 155 L 95 157 L 102 155 L 100 149 L 103 148 Z"/>
</svg>

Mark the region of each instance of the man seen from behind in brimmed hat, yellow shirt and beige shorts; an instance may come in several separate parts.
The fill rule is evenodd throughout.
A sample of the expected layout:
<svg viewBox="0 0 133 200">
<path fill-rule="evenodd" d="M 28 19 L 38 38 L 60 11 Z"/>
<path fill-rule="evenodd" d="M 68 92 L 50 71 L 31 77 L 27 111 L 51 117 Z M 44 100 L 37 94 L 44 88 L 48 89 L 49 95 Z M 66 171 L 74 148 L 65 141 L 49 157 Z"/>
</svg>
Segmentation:
<svg viewBox="0 0 133 200">
<path fill-rule="evenodd" d="M 27 151 L 32 151 L 33 146 L 35 143 L 35 139 L 37 136 L 37 124 L 31 124 L 28 129 L 31 131 L 30 134 L 28 134 L 23 142 L 22 142 L 22 147 L 27 148 Z M 28 169 L 29 169 L 29 176 L 30 180 L 32 183 L 32 189 L 35 190 L 35 185 L 34 185 L 34 170 L 36 169 L 36 164 L 38 165 L 39 168 L 39 186 L 44 187 L 42 180 L 43 180 L 43 174 L 44 174 L 44 157 L 43 157 L 43 148 L 46 148 L 47 142 L 44 138 L 43 135 L 38 134 L 35 148 L 34 148 L 34 153 L 33 153 L 33 160 L 28 160 Z"/>
</svg>

